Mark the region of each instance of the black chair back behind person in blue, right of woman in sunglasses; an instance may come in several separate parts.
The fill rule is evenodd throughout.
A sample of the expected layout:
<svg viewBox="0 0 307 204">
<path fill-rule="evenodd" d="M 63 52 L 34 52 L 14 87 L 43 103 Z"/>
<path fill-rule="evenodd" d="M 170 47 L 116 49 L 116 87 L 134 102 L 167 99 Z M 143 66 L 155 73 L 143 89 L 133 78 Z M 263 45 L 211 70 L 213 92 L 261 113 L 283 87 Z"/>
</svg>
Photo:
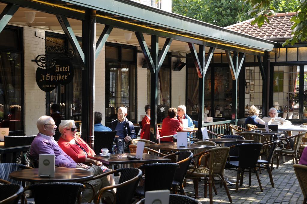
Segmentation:
<svg viewBox="0 0 307 204">
<path fill-rule="evenodd" d="M 102 148 L 109 149 L 113 152 L 113 143 L 117 131 L 95 131 L 94 132 L 94 151 L 97 155 L 101 153 Z"/>
</svg>

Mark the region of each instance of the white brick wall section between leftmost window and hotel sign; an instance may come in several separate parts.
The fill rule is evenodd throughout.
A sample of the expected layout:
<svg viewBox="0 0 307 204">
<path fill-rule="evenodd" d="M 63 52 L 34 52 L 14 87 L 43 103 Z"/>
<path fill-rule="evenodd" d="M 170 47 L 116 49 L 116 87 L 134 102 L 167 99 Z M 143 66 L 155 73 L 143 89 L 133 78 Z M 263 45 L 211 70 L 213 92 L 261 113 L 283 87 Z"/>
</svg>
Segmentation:
<svg viewBox="0 0 307 204">
<path fill-rule="evenodd" d="M 24 65 L 25 65 L 25 135 L 36 135 L 36 121 L 46 113 L 46 94 L 36 84 L 35 72 L 37 65 L 34 60 L 39 54 L 45 53 L 45 31 L 24 28 Z"/>
</svg>

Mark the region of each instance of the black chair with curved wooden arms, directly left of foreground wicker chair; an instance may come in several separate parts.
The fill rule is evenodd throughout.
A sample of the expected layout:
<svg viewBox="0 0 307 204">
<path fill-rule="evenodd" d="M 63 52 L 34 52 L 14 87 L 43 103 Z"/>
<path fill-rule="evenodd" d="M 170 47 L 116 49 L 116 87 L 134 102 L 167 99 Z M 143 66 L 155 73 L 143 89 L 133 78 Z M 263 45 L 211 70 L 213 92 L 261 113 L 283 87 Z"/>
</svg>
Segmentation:
<svg viewBox="0 0 307 204">
<path fill-rule="evenodd" d="M 176 191 L 176 187 L 179 187 L 179 192 L 185 195 L 185 190 L 183 188 L 183 182 L 185 180 L 185 176 L 187 174 L 189 165 L 191 163 L 193 153 L 189 151 L 179 151 L 173 154 L 169 154 L 163 156 L 165 158 L 177 156 L 177 164 L 179 164 L 179 168 L 176 170 L 173 183 L 172 183 L 172 190 Z"/>
</svg>

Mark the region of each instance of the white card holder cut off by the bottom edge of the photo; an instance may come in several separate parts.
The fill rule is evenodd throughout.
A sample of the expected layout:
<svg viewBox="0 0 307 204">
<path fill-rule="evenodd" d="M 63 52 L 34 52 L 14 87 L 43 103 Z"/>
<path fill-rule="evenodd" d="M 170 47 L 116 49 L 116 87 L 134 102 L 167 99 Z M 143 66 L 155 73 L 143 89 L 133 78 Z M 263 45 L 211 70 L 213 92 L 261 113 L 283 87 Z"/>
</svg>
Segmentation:
<svg viewBox="0 0 307 204">
<path fill-rule="evenodd" d="M 145 204 L 169 204 L 169 190 L 151 190 L 145 192 Z"/>
</svg>

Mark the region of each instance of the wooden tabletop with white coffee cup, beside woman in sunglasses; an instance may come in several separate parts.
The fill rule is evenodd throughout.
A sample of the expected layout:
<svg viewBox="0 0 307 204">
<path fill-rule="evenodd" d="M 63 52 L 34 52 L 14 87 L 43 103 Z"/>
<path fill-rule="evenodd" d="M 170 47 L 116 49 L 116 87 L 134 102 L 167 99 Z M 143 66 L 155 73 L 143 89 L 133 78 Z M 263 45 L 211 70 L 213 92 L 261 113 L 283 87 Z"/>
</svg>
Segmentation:
<svg viewBox="0 0 307 204">
<path fill-rule="evenodd" d="M 117 156 L 122 156 L 118 158 Z M 155 162 L 170 162 L 170 159 L 159 157 L 156 155 L 143 154 L 143 159 L 127 159 L 128 155 L 135 156 L 134 154 L 124 153 L 124 154 L 114 154 L 109 157 L 102 157 L 100 155 L 91 155 L 87 156 L 90 159 L 95 159 L 104 164 L 113 165 L 113 164 L 131 164 L 131 163 L 155 163 Z"/>
</svg>

